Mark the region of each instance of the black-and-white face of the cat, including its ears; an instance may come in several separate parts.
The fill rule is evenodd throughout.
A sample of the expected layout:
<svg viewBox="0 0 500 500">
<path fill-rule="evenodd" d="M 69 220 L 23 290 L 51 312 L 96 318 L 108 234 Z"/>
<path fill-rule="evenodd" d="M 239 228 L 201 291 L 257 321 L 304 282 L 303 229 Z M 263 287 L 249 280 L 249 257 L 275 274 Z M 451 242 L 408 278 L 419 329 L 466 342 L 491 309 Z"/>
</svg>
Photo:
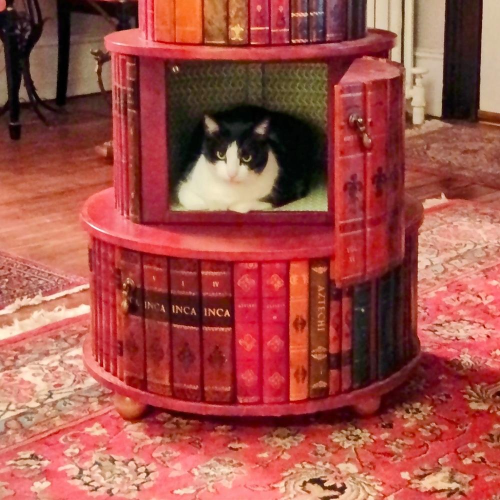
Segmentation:
<svg viewBox="0 0 500 500">
<path fill-rule="evenodd" d="M 209 168 L 222 180 L 242 183 L 258 176 L 267 163 L 269 120 L 253 124 L 218 122 L 210 116 L 203 121 L 202 153 Z"/>
</svg>

